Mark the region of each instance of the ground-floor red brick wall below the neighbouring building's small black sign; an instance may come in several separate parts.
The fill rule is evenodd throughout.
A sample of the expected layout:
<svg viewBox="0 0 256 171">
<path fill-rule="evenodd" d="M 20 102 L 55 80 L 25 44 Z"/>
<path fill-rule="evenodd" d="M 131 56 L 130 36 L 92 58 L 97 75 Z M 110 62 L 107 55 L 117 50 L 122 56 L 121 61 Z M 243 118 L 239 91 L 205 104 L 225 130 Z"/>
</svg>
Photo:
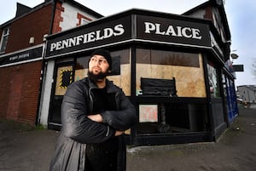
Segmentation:
<svg viewBox="0 0 256 171">
<path fill-rule="evenodd" d="M 0 68 L 0 117 L 35 124 L 42 61 Z"/>
</svg>

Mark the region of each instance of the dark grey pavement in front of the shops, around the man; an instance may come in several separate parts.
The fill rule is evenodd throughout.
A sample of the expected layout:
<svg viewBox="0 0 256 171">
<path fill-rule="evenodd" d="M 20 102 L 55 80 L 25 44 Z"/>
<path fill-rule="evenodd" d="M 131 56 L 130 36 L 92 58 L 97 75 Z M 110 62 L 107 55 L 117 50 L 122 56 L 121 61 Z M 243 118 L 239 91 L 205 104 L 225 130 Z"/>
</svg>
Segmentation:
<svg viewBox="0 0 256 171">
<path fill-rule="evenodd" d="M 256 105 L 217 142 L 127 147 L 127 171 L 255 171 Z M 47 171 L 59 132 L 0 120 L 0 171 Z"/>
</svg>

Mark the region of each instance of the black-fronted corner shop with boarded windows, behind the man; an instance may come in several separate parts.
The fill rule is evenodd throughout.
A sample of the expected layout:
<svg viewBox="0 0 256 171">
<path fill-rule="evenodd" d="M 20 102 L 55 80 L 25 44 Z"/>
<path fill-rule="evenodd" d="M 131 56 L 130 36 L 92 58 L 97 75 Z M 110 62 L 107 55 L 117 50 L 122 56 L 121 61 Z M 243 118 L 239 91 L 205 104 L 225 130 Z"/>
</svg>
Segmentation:
<svg viewBox="0 0 256 171">
<path fill-rule="evenodd" d="M 230 30 L 216 2 L 183 15 L 130 9 L 46 37 L 40 123 L 61 128 L 68 85 L 86 77 L 93 50 L 107 48 L 113 57 L 108 79 L 137 107 L 127 143 L 217 140 L 238 111 L 235 77 L 224 66 Z"/>
</svg>

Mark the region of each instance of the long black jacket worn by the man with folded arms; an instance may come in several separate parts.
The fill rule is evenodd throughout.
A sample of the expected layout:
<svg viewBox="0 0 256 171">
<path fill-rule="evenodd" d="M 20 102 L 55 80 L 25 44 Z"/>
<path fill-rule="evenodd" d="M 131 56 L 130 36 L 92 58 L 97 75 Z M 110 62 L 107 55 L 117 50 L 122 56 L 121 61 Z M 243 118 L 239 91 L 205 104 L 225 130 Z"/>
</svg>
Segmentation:
<svg viewBox="0 0 256 171">
<path fill-rule="evenodd" d="M 102 143 L 113 138 L 115 130 L 126 130 L 137 123 L 134 105 L 123 91 L 107 79 L 107 92 L 115 94 L 116 111 L 103 111 L 103 123 L 91 121 L 94 102 L 91 90 L 97 88 L 88 77 L 72 83 L 61 105 L 61 134 L 50 171 L 84 171 L 86 143 Z M 125 145 L 119 136 L 118 170 L 125 170 Z"/>
</svg>

